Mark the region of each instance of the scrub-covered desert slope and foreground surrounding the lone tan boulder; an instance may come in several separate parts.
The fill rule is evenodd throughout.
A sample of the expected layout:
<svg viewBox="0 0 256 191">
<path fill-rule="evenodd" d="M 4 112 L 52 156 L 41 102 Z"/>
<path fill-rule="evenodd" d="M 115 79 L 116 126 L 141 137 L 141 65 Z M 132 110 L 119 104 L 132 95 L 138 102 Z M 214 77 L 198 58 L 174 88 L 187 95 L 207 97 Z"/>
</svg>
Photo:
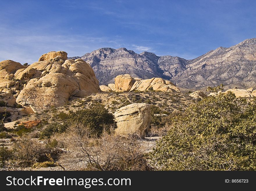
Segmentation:
<svg viewBox="0 0 256 191">
<path fill-rule="evenodd" d="M 3 169 L 255 170 L 256 99 L 168 92 L 94 94 L 31 116 L 40 124 L 1 124 Z M 113 111 L 149 103 L 145 136 L 115 135 Z M 5 117 L 4 114 L 2 118 Z M 28 117 L 29 118 L 29 117 Z M 33 118 L 33 119 L 34 119 Z"/>
</svg>

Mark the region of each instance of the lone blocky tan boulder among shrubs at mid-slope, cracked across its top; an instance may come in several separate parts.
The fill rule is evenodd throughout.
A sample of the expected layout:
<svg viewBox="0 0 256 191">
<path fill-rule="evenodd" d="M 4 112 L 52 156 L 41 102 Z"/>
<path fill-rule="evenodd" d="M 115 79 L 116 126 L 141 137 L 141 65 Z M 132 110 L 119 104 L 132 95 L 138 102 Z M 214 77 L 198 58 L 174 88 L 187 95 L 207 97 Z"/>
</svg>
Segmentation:
<svg viewBox="0 0 256 191">
<path fill-rule="evenodd" d="M 116 110 L 114 116 L 117 122 L 116 134 L 140 133 L 140 135 L 145 135 L 151 122 L 150 105 L 147 103 L 132 103 Z"/>
</svg>

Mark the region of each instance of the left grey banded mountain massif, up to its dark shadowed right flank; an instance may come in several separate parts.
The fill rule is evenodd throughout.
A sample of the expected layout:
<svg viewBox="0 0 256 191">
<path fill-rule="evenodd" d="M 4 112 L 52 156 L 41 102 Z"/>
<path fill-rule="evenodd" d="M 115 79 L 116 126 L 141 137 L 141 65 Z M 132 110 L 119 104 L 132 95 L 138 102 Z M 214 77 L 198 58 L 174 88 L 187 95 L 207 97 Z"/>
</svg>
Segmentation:
<svg viewBox="0 0 256 191">
<path fill-rule="evenodd" d="M 158 67 L 158 56 L 154 53 L 145 52 L 145 55 L 140 55 L 126 48 L 101 48 L 72 59 L 76 58 L 81 58 L 91 65 L 100 85 L 114 83 L 115 77 L 121 74 L 130 74 L 142 79 L 167 77 Z"/>
</svg>

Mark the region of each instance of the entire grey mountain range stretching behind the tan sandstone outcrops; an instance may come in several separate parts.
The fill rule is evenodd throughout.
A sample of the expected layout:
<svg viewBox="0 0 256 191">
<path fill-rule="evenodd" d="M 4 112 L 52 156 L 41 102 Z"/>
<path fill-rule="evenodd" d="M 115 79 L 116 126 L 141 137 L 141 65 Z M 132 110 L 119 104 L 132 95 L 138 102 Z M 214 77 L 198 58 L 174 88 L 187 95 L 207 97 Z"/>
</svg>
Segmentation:
<svg viewBox="0 0 256 191">
<path fill-rule="evenodd" d="M 150 52 L 137 54 L 125 48 L 101 48 L 74 58 L 91 65 L 100 85 L 113 83 L 115 76 L 121 74 L 143 79 L 161 77 L 181 88 L 220 83 L 241 88 L 256 85 L 256 38 L 229 48 L 219 47 L 193 60 Z"/>
</svg>

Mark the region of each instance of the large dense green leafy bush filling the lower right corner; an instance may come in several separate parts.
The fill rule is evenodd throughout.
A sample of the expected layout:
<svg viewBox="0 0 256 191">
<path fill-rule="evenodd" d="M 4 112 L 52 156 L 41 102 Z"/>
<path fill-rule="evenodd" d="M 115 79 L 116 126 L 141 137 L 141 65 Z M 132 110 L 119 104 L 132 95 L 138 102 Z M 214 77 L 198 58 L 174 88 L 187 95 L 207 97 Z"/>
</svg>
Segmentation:
<svg viewBox="0 0 256 191">
<path fill-rule="evenodd" d="M 151 156 L 163 170 L 256 170 L 255 136 L 256 99 L 247 102 L 229 92 L 174 117 Z"/>
</svg>

